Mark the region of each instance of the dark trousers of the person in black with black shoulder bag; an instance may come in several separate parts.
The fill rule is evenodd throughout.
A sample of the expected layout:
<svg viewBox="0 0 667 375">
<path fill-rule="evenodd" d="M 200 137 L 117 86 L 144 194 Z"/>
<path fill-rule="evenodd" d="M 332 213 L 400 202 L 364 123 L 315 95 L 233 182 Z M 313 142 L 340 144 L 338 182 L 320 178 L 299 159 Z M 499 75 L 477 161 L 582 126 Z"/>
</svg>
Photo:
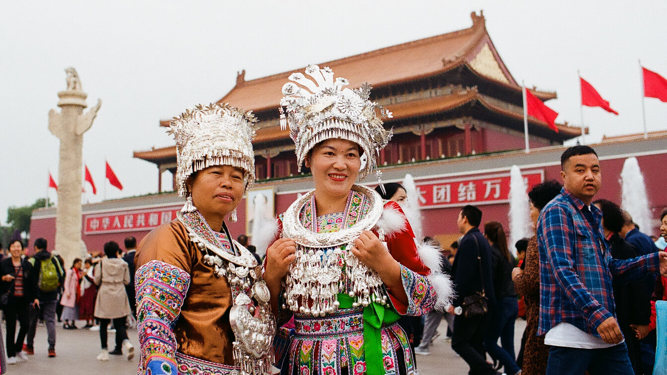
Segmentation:
<svg viewBox="0 0 667 375">
<path fill-rule="evenodd" d="M 482 344 L 489 318 L 489 314 L 474 318 L 464 318 L 460 315 L 454 317 L 452 349 L 470 366 L 469 375 L 496 374 L 496 370 L 486 362 L 486 353 Z"/>
</svg>

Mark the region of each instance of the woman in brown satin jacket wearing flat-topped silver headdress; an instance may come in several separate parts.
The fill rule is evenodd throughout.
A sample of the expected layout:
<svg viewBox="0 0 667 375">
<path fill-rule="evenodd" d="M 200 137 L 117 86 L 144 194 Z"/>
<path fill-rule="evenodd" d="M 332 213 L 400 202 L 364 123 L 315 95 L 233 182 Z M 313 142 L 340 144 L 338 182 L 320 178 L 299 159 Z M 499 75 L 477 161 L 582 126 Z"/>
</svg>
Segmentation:
<svg viewBox="0 0 667 375">
<path fill-rule="evenodd" d="M 178 192 L 187 203 L 135 256 L 140 374 L 271 372 L 268 288 L 257 260 L 225 226 L 255 178 L 254 121 L 213 104 L 171 122 Z"/>
</svg>

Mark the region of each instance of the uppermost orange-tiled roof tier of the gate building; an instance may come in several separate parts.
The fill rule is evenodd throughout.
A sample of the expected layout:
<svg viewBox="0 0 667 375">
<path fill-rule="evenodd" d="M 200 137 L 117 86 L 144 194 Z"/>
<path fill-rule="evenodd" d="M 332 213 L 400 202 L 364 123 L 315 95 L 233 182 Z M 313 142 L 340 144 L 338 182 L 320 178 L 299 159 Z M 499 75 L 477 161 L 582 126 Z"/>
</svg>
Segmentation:
<svg viewBox="0 0 667 375">
<path fill-rule="evenodd" d="M 488 32 L 483 13 L 471 13 L 472 27 L 434 37 L 410 41 L 319 63 L 328 66 L 337 76 L 346 77 L 352 86 L 369 82 L 373 87 L 396 85 L 431 77 L 466 65 L 471 71 L 490 82 L 511 87 L 519 93 L 521 87 L 510 74 L 496 51 Z M 245 81 L 245 71 L 237 76 L 236 85 L 219 102 L 255 112 L 277 109 L 281 88 L 297 67 L 283 73 Z M 536 91 L 542 100 L 553 99 L 556 93 Z"/>
</svg>

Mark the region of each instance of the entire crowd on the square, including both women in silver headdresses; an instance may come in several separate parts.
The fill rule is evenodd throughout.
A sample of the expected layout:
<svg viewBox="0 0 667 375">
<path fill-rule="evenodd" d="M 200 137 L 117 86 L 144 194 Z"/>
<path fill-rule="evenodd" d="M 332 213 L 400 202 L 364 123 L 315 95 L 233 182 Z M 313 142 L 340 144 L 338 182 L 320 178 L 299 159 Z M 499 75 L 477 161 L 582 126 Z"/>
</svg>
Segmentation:
<svg viewBox="0 0 667 375">
<path fill-rule="evenodd" d="M 188 109 L 169 128 L 185 198 L 175 220 L 138 247 L 128 238 L 126 254 L 108 242 L 102 257 L 67 270 L 45 240 L 30 258 L 11 242 L 0 263 L 8 363 L 33 354 L 40 316 L 49 356 L 59 317 L 66 329 L 99 324 L 97 360 L 130 360 L 130 317 L 140 374 L 407 375 L 445 318 L 469 374 L 652 373 L 651 356 L 667 345 L 652 334 L 663 324 L 656 301 L 666 296 L 667 253 L 617 204 L 594 200 L 602 183 L 594 149 L 566 149 L 563 184 L 531 188 L 532 238 L 508 244 L 500 222 L 482 225 L 482 210 L 464 206 L 452 218 L 461 237 L 443 251 L 416 238 L 404 187 L 356 184 L 392 135 L 370 86 L 345 89 L 346 79 L 316 65 L 289 80 L 281 125 L 313 190 L 263 228 L 265 258 L 225 224 L 255 180 L 255 117 L 228 104 Z M 667 211 L 661 220 L 667 239 Z M 511 246 L 523 250 L 519 261 Z"/>
</svg>

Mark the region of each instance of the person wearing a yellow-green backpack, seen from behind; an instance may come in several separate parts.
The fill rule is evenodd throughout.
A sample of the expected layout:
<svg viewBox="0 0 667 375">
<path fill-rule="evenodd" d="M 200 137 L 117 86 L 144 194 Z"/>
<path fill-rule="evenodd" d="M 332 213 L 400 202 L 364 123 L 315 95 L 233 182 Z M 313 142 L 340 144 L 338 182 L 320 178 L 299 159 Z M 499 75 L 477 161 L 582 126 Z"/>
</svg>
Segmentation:
<svg viewBox="0 0 667 375">
<path fill-rule="evenodd" d="M 65 272 L 60 266 L 60 262 L 46 250 L 46 247 L 47 241 L 43 238 L 37 238 L 35 240 L 35 251 L 37 253 L 30 259 L 33 266 L 30 280 L 33 286 L 37 286 L 37 297 L 33 302 L 33 314 L 30 317 L 25 352 L 27 354 L 34 354 L 35 352 L 33 342 L 37 329 L 37 315 L 39 309 L 41 309 L 46 323 L 49 357 L 55 357 L 55 308 L 58 304 L 58 289 L 65 281 Z"/>
</svg>

